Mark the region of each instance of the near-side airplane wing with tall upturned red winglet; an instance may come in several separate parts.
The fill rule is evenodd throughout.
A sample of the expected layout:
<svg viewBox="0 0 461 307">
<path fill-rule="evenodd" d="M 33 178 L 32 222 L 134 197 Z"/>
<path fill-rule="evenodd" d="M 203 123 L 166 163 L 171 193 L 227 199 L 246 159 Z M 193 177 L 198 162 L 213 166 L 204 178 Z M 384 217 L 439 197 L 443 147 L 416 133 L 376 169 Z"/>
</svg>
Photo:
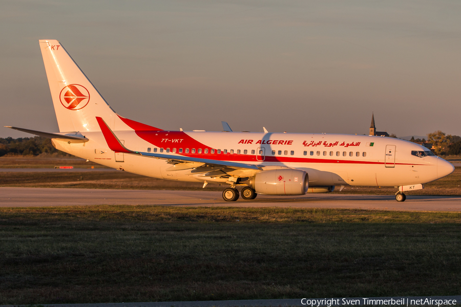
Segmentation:
<svg viewBox="0 0 461 307">
<path fill-rule="evenodd" d="M 164 155 L 163 153 L 154 153 L 154 152 L 133 151 L 125 147 L 120 142 L 120 140 L 117 138 L 117 136 L 113 133 L 113 131 L 109 128 L 109 126 L 106 124 L 106 122 L 104 122 L 102 118 L 96 117 L 96 120 L 99 123 L 99 126 L 102 131 L 102 135 L 104 136 L 104 139 L 106 139 L 107 145 L 113 151 L 130 153 L 132 155 L 151 157 L 151 158 L 156 158 L 156 159 L 169 160 L 168 163 L 173 164 L 173 165 L 179 164 L 179 163 L 189 164 L 188 166 L 185 166 L 185 167 L 178 167 L 178 169 L 196 168 L 196 167 L 200 167 L 203 165 L 207 165 L 207 166 L 231 167 L 235 169 L 244 168 L 244 169 L 260 170 L 258 166 L 254 164 L 217 161 L 217 160 L 211 160 L 211 159 L 202 159 L 202 158 L 175 156 L 175 155 Z"/>
</svg>

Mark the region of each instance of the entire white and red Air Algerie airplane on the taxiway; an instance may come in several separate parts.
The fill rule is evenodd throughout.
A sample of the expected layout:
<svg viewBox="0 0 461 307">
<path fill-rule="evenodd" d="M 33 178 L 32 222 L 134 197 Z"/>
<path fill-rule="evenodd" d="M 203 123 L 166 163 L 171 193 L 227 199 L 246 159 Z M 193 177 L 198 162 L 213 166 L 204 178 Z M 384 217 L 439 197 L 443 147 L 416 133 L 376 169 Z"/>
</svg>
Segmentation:
<svg viewBox="0 0 461 307">
<path fill-rule="evenodd" d="M 48 133 L 8 128 L 50 138 L 71 155 L 143 176 L 224 184 L 224 201 L 257 194 L 328 193 L 336 186 L 395 187 L 405 191 L 454 171 L 421 145 L 389 137 L 163 130 L 124 118 L 102 98 L 61 43 L 39 40 L 59 126 Z M 237 187 L 242 187 L 240 193 Z"/>
</svg>

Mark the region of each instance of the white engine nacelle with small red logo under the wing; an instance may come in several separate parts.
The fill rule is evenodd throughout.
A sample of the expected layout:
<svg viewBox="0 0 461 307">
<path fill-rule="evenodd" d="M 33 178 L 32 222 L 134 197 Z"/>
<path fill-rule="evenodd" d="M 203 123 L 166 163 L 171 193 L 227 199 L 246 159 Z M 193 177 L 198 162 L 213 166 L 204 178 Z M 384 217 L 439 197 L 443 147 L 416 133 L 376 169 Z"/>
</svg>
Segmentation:
<svg viewBox="0 0 461 307">
<path fill-rule="evenodd" d="M 307 173 L 299 169 L 271 169 L 252 178 L 256 193 L 266 195 L 304 195 L 309 187 Z"/>
</svg>

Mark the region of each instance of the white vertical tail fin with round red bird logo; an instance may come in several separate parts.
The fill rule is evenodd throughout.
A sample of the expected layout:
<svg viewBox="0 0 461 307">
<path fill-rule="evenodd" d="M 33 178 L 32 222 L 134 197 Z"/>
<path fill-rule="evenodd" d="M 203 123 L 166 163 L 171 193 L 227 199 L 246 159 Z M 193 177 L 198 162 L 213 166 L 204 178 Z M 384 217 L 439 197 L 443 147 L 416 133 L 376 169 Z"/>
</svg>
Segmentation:
<svg viewBox="0 0 461 307">
<path fill-rule="evenodd" d="M 40 39 L 60 132 L 101 131 L 96 116 L 114 128 L 118 117 L 59 41 Z"/>
</svg>

